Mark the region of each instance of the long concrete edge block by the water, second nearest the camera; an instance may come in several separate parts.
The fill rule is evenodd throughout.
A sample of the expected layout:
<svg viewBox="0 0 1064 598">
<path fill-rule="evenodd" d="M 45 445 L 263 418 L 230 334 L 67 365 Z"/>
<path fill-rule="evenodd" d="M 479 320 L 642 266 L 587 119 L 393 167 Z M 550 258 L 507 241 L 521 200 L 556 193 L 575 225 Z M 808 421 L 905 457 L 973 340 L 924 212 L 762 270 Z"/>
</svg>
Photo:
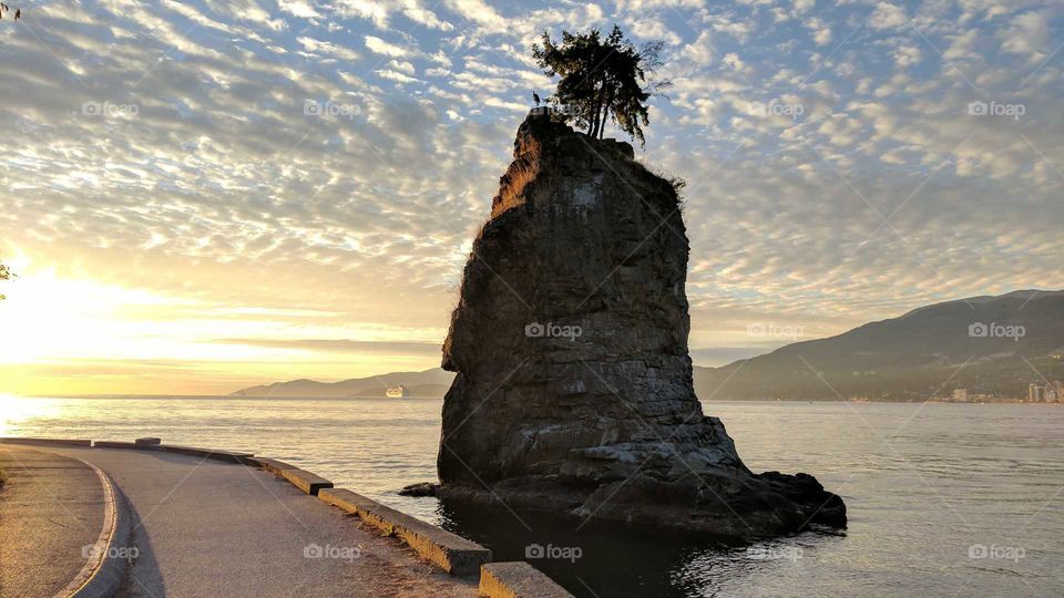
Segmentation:
<svg viewBox="0 0 1064 598">
<path fill-rule="evenodd" d="M 323 489 L 318 498 L 357 515 L 386 535 L 396 536 L 452 575 L 474 577 L 481 565 L 491 560 L 488 548 L 349 489 Z"/>
</svg>

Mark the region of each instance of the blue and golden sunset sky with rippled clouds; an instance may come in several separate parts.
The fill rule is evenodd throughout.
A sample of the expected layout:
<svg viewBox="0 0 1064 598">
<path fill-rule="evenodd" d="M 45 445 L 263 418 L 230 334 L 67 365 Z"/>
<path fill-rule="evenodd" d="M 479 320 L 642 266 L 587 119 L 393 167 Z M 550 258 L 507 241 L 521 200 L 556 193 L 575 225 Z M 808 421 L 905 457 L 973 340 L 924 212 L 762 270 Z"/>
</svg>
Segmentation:
<svg viewBox="0 0 1064 598">
<path fill-rule="evenodd" d="M 0 393 L 438 365 L 544 30 L 664 41 L 696 364 L 1064 287 L 1058 0 L 8 3 Z"/>
</svg>

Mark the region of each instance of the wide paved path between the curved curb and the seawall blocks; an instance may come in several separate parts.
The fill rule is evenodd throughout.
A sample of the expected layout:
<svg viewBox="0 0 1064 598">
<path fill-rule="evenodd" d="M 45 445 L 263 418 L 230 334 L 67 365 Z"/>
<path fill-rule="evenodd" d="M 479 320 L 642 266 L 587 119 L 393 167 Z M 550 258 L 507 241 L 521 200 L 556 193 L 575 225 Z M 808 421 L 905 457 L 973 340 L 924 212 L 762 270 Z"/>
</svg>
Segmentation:
<svg viewBox="0 0 1064 598">
<path fill-rule="evenodd" d="M 137 555 L 122 596 L 477 595 L 474 582 L 260 470 L 171 453 L 47 450 L 96 465 L 125 495 Z"/>
</svg>

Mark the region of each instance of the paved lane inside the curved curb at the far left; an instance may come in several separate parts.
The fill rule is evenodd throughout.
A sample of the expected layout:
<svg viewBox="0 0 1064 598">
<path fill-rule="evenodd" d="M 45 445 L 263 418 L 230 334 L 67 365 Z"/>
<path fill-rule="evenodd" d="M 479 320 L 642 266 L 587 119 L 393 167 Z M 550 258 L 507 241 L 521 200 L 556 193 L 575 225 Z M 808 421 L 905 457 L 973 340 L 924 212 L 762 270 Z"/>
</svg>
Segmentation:
<svg viewBox="0 0 1064 598">
<path fill-rule="evenodd" d="M 0 596 L 54 596 L 100 537 L 103 486 L 84 463 L 47 450 L 0 444 Z"/>
</svg>

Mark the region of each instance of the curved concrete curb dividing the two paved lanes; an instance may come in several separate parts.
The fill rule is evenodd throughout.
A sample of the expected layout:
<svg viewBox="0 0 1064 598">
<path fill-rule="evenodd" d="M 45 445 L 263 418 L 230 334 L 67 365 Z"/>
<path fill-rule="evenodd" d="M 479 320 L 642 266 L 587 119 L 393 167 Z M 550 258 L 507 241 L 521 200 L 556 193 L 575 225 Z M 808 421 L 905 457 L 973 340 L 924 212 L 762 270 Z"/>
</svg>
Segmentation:
<svg viewBox="0 0 1064 598">
<path fill-rule="evenodd" d="M 57 598 L 111 598 L 122 585 L 131 558 L 135 556 L 130 546 L 132 524 L 130 511 L 122 491 L 115 486 L 106 473 L 92 463 L 79 460 L 95 472 L 103 485 L 104 515 L 103 529 L 92 548 L 88 550 L 89 560 L 74 579 L 66 585 Z M 125 555 L 120 548 L 125 548 Z"/>
</svg>

